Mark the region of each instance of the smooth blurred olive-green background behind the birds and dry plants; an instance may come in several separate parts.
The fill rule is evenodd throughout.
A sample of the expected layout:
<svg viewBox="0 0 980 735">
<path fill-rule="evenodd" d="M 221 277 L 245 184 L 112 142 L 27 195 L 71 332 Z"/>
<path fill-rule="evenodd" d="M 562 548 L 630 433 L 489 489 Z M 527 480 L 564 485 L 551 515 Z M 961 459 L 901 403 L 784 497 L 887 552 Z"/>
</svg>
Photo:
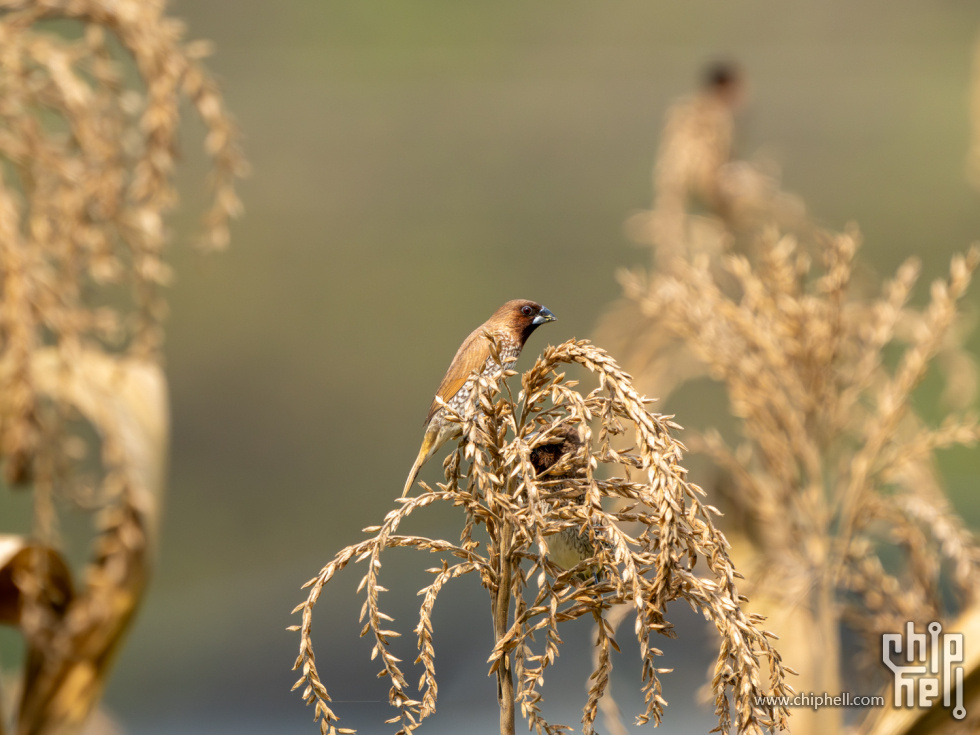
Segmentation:
<svg viewBox="0 0 980 735">
<path fill-rule="evenodd" d="M 496 306 L 532 298 L 557 314 L 530 352 L 592 336 L 617 296 L 615 269 L 647 261 L 622 223 L 649 204 L 667 105 L 709 58 L 740 60 L 750 80 L 739 153 L 764 148 L 822 224 L 858 222 L 879 270 L 918 254 L 932 279 L 980 234 L 980 193 L 964 174 L 973 3 L 172 8 L 191 37 L 215 42 L 210 66 L 253 173 L 232 249 L 192 252 L 205 166 L 201 130 L 188 126 L 161 561 L 107 694 L 131 733 L 316 732 L 312 710 L 289 692 L 298 636 L 285 627 L 298 622 L 289 612 L 300 585 L 391 507 L 436 384 Z M 943 466 L 957 506 L 980 526 L 975 453 Z M 458 520 L 432 512 L 412 530 L 455 537 Z M 386 609 L 405 633 L 397 650 L 407 661 L 414 590 L 432 563 L 394 553 L 388 567 Z M 357 637 L 361 574 L 340 576 L 320 602 L 318 663 L 342 725 L 392 732 L 382 725 L 385 683 Z M 474 579 L 444 595 L 439 713 L 422 731 L 494 733 L 485 593 Z M 665 676 L 666 731 L 706 732 L 714 717 L 695 708 L 694 689 L 715 644 L 702 623 L 674 614 L 681 639 L 664 645 L 663 665 L 675 668 Z M 545 688 L 545 713 L 572 725 L 588 637 L 588 625 L 569 629 Z M 622 638 L 614 686 L 631 717 L 639 667 L 628 631 Z"/>
</svg>

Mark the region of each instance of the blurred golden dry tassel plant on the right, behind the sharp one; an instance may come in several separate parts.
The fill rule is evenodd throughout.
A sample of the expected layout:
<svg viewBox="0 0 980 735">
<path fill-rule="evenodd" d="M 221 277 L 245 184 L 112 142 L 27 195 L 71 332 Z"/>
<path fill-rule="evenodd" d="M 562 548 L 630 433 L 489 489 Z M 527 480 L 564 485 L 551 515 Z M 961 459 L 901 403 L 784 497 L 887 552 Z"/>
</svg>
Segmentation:
<svg viewBox="0 0 980 735">
<path fill-rule="evenodd" d="M 740 436 L 709 430 L 689 443 L 723 471 L 714 490 L 735 519 L 733 554 L 798 688 L 836 693 L 842 624 L 864 639 L 857 663 L 880 671 L 882 633 L 950 621 L 977 601 L 980 545 L 951 508 L 934 453 L 980 438 L 962 412 L 976 367 L 958 318 L 980 249 L 955 257 L 919 308 L 916 260 L 879 284 L 857 257 L 856 231 L 800 221 L 780 235 L 775 206 L 756 208 L 768 224 L 741 229 L 722 213 L 680 212 L 673 241 L 646 239 L 668 264 L 620 272 L 624 297 L 599 332 L 646 391 L 663 397 L 704 377 L 724 385 Z M 930 368 L 946 384 L 939 403 L 953 406 L 938 426 L 913 402 Z M 954 610 L 946 583 L 959 593 Z M 796 733 L 842 727 L 839 709 L 793 715 Z"/>
</svg>

